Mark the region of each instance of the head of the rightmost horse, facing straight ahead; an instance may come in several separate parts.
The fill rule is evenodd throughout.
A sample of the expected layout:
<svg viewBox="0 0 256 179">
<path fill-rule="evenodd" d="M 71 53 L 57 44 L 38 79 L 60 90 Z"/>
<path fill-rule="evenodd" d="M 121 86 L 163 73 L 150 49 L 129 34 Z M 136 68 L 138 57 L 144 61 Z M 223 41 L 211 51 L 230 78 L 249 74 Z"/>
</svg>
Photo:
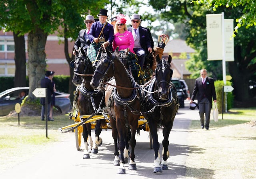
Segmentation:
<svg viewBox="0 0 256 179">
<path fill-rule="evenodd" d="M 158 97 L 159 99 L 168 99 L 168 93 L 170 89 L 170 83 L 172 80 L 173 71 L 171 69 L 170 63 L 172 62 L 172 56 L 168 56 L 168 61 L 156 56 L 156 87 L 158 87 Z"/>
</svg>

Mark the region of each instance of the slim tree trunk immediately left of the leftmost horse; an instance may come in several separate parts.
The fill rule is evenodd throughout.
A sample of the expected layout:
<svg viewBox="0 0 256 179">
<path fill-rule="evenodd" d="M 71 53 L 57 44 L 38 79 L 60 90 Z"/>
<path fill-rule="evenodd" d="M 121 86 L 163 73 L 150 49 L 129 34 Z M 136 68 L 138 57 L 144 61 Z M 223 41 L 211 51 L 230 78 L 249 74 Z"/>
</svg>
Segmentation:
<svg viewBox="0 0 256 179">
<path fill-rule="evenodd" d="M 65 32 L 67 31 L 67 28 L 64 28 L 64 34 L 66 34 Z M 74 50 L 74 48 L 73 48 Z M 66 38 L 66 36 L 64 36 L 64 52 L 65 52 L 65 56 L 66 56 L 66 60 L 68 62 L 68 64 L 70 64 L 70 62 L 72 60 L 74 60 L 74 55 L 73 55 L 73 51 L 71 52 L 71 58 L 69 56 L 68 53 L 68 39 Z M 72 79 L 74 76 L 74 70 L 72 68 L 69 68 L 69 72 L 70 72 L 70 79 L 69 79 L 69 83 L 68 83 L 68 93 L 70 93 L 70 101 L 73 104 L 73 100 L 74 100 L 74 91 L 76 90 L 76 86 L 74 86 Z"/>
</svg>

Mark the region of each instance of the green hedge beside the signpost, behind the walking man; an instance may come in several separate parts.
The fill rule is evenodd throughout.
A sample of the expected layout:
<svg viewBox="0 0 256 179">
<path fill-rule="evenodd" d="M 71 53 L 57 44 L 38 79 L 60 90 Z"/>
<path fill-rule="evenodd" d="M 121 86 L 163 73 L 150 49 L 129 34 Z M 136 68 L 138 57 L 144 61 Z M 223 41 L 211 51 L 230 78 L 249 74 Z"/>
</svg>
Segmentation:
<svg viewBox="0 0 256 179">
<path fill-rule="evenodd" d="M 222 96 L 223 96 L 223 86 L 224 82 L 221 80 L 217 80 L 214 82 L 215 90 L 216 90 L 216 95 L 217 95 L 217 107 L 219 113 L 222 113 Z M 227 81 L 226 86 L 232 86 L 231 82 Z M 233 107 L 233 102 L 234 102 L 234 96 L 232 95 L 232 92 L 226 92 L 227 99 L 225 99 L 225 93 L 224 93 L 224 111 L 225 111 L 225 106 L 226 106 L 226 100 L 227 100 L 227 110 L 231 109 Z"/>
</svg>

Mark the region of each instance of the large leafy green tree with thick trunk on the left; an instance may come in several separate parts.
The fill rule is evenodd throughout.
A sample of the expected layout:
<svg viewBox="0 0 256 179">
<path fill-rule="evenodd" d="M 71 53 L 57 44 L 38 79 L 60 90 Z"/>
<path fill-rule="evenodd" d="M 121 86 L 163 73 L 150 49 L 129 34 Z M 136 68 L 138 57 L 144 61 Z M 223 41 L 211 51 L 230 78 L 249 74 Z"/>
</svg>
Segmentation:
<svg viewBox="0 0 256 179">
<path fill-rule="evenodd" d="M 35 97 L 32 91 L 40 87 L 40 80 L 44 77 L 45 61 L 45 44 L 48 34 L 53 34 L 56 30 L 64 32 L 66 38 L 76 38 L 83 18 L 82 13 L 98 12 L 104 7 L 106 0 L 1 0 L 1 26 L 6 31 L 13 31 L 19 36 L 28 33 L 28 77 L 29 77 L 29 97 L 34 101 Z M 89 5 L 88 5 L 89 4 Z M 84 8 L 86 7 L 86 8 Z M 65 41 L 67 42 L 67 41 Z M 65 46 L 65 49 L 66 46 Z M 70 61 L 70 58 L 68 59 Z"/>
</svg>

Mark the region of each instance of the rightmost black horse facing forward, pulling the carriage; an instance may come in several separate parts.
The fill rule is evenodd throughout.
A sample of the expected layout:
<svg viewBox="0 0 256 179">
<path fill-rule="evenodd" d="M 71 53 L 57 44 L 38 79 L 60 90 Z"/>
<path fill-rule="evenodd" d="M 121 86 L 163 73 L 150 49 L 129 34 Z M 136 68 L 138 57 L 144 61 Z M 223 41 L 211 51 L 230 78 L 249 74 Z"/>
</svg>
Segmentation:
<svg viewBox="0 0 256 179">
<path fill-rule="evenodd" d="M 168 62 L 164 59 L 160 60 L 156 56 L 156 70 L 155 78 L 152 78 L 148 85 L 142 89 L 142 96 L 144 96 L 143 109 L 145 111 L 144 117 L 148 121 L 150 127 L 150 134 L 153 139 L 153 149 L 155 153 L 154 173 L 162 172 L 162 169 L 168 169 L 167 159 L 169 157 L 168 145 L 169 134 L 172 129 L 174 117 L 179 108 L 178 96 L 176 88 L 171 83 L 172 70 L 170 63 L 172 57 L 169 55 Z M 162 151 L 162 163 L 160 166 L 160 156 L 158 150 L 160 144 L 158 142 L 158 129 L 163 127 L 164 140 Z"/>
</svg>

